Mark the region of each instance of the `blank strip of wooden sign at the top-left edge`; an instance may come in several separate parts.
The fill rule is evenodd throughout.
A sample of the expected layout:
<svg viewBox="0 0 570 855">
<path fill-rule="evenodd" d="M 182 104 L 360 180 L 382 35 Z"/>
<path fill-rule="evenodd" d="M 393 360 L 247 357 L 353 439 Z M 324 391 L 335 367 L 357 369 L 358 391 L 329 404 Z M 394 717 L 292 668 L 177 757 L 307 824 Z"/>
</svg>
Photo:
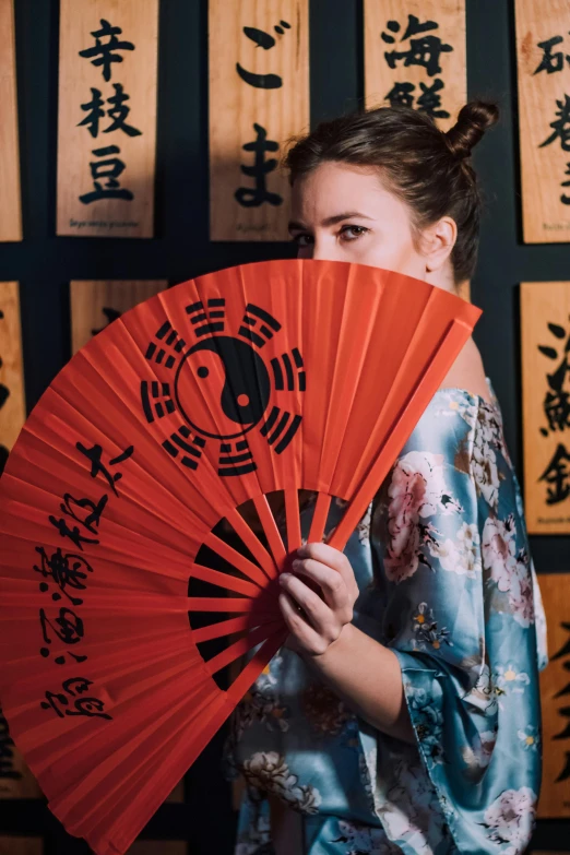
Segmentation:
<svg viewBox="0 0 570 855">
<path fill-rule="evenodd" d="M 0 0 L 0 240 L 22 240 L 14 0 Z"/>
</svg>

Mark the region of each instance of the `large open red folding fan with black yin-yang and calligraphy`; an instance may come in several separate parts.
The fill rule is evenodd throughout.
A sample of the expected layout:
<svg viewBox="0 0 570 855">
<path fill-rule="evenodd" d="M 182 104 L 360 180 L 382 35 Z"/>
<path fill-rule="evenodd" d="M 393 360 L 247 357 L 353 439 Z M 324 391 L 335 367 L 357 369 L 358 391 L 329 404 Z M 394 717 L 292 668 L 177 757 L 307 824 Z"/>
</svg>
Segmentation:
<svg viewBox="0 0 570 855">
<path fill-rule="evenodd" d="M 342 549 L 479 313 L 375 268 L 247 264 L 127 312 L 43 395 L 0 482 L 0 698 L 97 855 L 124 853 L 283 644 L 299 490 L 311 541 L 347 502 Z"/>
</svg>

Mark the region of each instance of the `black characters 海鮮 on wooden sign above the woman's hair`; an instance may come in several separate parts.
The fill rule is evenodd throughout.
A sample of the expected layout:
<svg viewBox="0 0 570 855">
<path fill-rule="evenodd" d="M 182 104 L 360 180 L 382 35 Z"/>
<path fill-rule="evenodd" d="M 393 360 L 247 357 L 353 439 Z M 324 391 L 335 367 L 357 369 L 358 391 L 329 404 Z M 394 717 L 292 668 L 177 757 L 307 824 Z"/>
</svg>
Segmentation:
<svg viewBox="0 0 570 855">
<path fill-rule="evenodd" d="M 384 96 L 391 107 L 414 107 L 432 119 L 450 118 L 442 105 L 446 84 L 441 76 L 441 62 L 451 54 L 453 46 L 440 37 L 436 21 L 420 21 L 411 14 L 405 24 L 387 22 L 380 34 L 385 45 L 384 60 L 388 68 L 397 73 L 392 88 Z M 406 69 L 411 67 L 424 69 L 426 82 L 419 81 L 416 86 L 406 80 Z"/>
</svg>

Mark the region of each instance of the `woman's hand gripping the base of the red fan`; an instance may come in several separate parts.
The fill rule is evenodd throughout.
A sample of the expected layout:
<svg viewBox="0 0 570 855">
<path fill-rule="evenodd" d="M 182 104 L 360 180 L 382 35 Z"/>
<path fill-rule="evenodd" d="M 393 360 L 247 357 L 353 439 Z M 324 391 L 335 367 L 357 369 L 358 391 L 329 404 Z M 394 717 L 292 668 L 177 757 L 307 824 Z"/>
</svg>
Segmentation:
<svg viewBox="0 0 570 855">
<path fill-rule="evenodd" d="M 332 546 L 307 544 L 297 550 L 297 556 L 294 573 L 280 575 L 280 607 L 290 630 L 286 646 L 319 656 L 352 621 L 358 585 L 351 562 Z"/>
</svg>

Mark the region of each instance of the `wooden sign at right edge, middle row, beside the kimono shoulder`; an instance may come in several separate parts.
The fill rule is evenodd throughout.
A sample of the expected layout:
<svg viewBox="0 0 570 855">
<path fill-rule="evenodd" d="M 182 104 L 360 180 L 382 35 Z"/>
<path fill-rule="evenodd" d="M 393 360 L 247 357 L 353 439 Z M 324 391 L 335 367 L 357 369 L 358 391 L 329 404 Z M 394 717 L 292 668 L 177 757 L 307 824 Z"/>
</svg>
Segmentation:
<svg viewBox="0 0 570 855">
<path fill-rule="evenodd" d="M 524 494 L 532 534 L 570 533 L 570 283 L 521 285 Z"/>
</svg>

